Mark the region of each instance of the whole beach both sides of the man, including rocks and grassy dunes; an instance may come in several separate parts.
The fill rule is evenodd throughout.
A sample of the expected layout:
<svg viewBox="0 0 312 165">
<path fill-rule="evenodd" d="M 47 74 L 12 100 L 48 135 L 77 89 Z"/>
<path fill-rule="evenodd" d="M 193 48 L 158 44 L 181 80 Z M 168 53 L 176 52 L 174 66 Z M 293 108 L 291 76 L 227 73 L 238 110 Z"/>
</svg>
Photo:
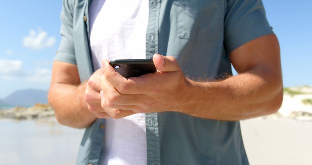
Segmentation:
<svg viewBox="0 0 312 165">
<path fill-rule="evenodd" d="M 312 164 L 312 88 L 287 91 L 277 113 L 241 121 L 251 165 Z M 2 111 L 0 131 L 0 165 L 75 164 L 84 133 L 62 126 L 40 104 Z"/>
</svg>

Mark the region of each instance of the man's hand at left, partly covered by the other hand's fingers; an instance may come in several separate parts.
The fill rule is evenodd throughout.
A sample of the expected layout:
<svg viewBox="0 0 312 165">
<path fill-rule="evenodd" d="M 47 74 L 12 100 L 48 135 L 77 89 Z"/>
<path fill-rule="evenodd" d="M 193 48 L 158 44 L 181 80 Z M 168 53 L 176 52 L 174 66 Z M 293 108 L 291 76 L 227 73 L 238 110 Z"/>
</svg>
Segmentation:
<svg viewBox="0 0 312 165">
<path fill-rule="evenodd" d="M 87 108 L 94 113 L 97 118 L 110 118 L 110 116 L 101 107 L 100 78 L 103 75 L 103 69 L 100 68 L 91 75 L 86 83 L 84 100 Z"/>
</svg>

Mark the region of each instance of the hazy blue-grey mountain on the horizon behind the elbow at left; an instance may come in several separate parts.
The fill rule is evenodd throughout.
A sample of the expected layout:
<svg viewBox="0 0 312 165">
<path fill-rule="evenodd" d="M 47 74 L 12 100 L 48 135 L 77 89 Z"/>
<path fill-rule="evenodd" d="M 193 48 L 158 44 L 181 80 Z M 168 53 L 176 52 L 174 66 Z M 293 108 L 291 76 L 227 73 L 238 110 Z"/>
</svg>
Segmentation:
<svg viewBox="0 0 312 165">
<path fill-rule="evenodd" d="M 48 103 L 48 91 L 39 90 L 39 89 L 25 89 L 17 90 L 2 99 L 4 104 L 12 106 L 32 106 L 35 103 Z"/>
</svg>

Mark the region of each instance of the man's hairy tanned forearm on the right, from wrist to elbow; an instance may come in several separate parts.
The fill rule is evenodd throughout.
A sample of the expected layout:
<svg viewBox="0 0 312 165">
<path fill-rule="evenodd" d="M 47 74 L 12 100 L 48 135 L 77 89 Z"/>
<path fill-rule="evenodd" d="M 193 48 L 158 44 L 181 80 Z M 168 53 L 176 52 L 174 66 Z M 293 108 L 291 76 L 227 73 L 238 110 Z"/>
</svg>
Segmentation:
<svg viewBox="0 0 312 165">
<path fill-rule="evenodd" d="M 183 113 L 200 118 L 237 121 L 276 112 L 283 98 L 280 72 L 258 66 L 219 82 L 190 82 Z"/>
</svg>

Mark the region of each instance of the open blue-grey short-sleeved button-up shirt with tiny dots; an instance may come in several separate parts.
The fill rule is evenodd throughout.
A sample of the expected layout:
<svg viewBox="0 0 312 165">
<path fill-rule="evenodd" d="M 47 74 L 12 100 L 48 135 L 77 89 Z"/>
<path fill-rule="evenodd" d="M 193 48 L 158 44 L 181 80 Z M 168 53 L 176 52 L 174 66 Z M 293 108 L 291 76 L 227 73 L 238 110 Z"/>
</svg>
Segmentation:
<svg viewBox="0 0 312 165">
<path fill-rule="evenodd" d="M 81 82 L 94 72 L 88 41 L 90 4 L 91 0 L 64 0 L 55 58 L 76 64 Z M 261 0 L 149 0 L 146 58 L 171 55 L 188 78 L 220 79 L 232 74 L 230 52 L 271 33 Z M 98 164 L 104 128 L 105 119 L 86 128 L 77 164 Z M 147 113 L 146 135 L 148 164 L 249 164 L 239 122 Z"/>
</svg>

